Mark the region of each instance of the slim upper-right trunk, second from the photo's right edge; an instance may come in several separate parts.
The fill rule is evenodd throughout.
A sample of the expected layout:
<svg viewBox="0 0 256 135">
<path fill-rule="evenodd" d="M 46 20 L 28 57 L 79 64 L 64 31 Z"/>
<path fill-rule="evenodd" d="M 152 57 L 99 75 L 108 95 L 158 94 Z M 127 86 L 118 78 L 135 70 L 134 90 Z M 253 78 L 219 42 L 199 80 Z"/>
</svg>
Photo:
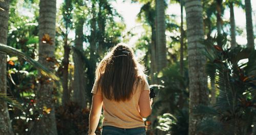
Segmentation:
<svg viewBox="0 0 256 135">
<path fill-rule="evenodd" d="M 230 8 L 230 32 L 231 32 L 231 48 L 237 47 L 236 42 L 236 22 L 234 21 L 234 6 L 233 3 L 229 3 Z"/>
</svg>

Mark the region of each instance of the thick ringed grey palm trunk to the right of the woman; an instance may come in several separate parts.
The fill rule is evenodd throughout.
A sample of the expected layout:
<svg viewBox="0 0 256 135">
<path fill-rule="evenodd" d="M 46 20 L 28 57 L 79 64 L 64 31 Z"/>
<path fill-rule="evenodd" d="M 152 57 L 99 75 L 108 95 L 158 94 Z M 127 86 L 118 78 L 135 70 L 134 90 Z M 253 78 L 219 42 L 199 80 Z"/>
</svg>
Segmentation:
<svg viewBox="0 0 256 135">
<path fill-rule="evenodd" d="M 197 134 L 196 127 L 202 115 L 196 115 L 194 108 L 207 104 L 207 76 L 205 74 L 206 58 L 200 40 L 204 37 L 203 8 L 199 0 L 186 0 L 186 21 L 188 40 L 188 74 L 189 74 L 189 134 Z"/>
</svg>

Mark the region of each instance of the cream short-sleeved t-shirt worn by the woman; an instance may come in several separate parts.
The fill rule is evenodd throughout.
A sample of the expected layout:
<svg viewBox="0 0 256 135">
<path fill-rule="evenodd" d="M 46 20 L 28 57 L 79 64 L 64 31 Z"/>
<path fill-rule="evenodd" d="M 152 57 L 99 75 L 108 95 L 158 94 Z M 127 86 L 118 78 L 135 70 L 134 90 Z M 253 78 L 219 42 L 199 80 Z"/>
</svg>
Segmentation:
<svg viewBox="0 0 256 135">
<path fill-rule="evenodd" d="M 96 95 L 102 95 L 100 89 L 97 89 L 98 82 L 93 85 L 92 92 Z M 146 81 L 144 88 L 139 84 L 134 86 L 134 93 L 129 101 L 108 100 L 103 96 L 103 126 L 115 126 L 119 128 L 144 127 L 144 121 L 139 113 L 139 98 L 142 91 L 150 91 L 150 86 Z"/>
</svg>

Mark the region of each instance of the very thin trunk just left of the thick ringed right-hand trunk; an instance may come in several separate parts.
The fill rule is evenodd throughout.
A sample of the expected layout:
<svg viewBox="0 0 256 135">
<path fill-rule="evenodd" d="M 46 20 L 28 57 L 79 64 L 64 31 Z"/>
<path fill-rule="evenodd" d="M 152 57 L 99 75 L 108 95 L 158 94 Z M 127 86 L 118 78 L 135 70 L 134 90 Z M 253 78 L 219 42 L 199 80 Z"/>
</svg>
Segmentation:
<svg viewBox="0 0 256 135">
<path fill-rule="evenodd" d="M 181 25 L 180 25 L 180 75 L 183 76 L 183 50 L 184 50 L 184 30 L 183 30 L 183 0 L 180 0 Z"/>
</svg>

